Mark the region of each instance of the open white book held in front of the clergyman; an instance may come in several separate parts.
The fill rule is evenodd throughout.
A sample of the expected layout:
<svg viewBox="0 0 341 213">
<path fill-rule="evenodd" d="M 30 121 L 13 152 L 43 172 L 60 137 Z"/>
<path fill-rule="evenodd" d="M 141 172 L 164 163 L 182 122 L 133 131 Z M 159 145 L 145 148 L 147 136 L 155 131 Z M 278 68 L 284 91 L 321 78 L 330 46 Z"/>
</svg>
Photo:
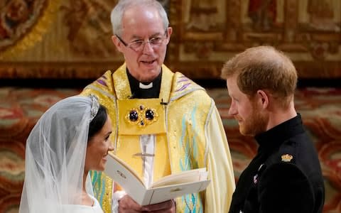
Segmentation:
<svg viewBox="0 0 341 213">
<path fill-rule="evenodd" d="M 210 183 L 210 180 L 207 180 L 206 168 L 199 168 L 165 176 L 147 188 L 139 175 L 112 153 L 108 155 L 104 173 L 121 185 L 140 205 L 156 204 L 200 192 Z"/>
</svg>

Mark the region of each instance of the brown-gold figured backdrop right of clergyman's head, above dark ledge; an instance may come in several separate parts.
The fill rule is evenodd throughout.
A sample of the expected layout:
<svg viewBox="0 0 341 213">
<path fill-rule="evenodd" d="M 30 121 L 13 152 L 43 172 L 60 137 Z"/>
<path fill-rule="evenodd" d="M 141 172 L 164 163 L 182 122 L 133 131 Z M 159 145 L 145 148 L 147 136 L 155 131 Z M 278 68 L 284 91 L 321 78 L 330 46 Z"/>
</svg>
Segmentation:
<svg viewBox="0 0 341 213">
<path fill-rule="evenodd" d="M 174 0 L 172 7 L 178 28 L 168 59 L 190 76 L 219 78 L 234 54 L 274 45 L 291 57 L 302 78 L 341 77 L 339 0 Z"/>
</svg>

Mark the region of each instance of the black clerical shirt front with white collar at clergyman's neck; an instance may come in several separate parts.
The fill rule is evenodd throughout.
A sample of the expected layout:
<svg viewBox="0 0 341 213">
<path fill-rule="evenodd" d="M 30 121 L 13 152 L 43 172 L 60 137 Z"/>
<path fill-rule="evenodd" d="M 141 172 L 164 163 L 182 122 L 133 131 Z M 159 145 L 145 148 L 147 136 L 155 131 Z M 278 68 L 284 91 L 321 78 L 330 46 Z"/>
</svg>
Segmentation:
<svg viewBox="0 0 341 213">
<path fill-rule="evenodd" d="M 159 96 L 162 70 L 152 82 L 139 82 L 139 80 L 136 80 L 136 78 L 130 74 L 128 69 L 126 69 L 126 75 L 128 75 L 131 98 L 146 99 L 157 98 Z"/>
</svg>

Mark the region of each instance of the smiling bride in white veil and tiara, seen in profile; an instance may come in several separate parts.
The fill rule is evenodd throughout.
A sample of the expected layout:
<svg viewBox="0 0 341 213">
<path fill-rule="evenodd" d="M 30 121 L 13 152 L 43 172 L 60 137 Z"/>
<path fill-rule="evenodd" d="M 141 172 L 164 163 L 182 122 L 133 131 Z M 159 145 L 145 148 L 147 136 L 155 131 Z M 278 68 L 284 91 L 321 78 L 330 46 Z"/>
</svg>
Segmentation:
<svg viewBox="0 0 341 213">
<path fill-rule="evenodd" d="M 61 100 L 41 116 L 26 141 L 19 212 L 102 213 L 90 170 L 104 170 L 112 124 L 97 98 Z"/>
</svg>

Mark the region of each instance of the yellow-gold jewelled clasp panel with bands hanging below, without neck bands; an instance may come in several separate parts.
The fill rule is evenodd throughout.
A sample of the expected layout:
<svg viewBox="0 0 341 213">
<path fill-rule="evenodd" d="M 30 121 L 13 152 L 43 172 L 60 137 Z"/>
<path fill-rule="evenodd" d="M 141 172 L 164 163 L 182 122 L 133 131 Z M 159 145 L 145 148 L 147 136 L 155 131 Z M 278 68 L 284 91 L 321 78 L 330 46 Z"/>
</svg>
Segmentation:
<svg viewBox="0 0 341 213">
<path fill-rule="evenodd" d="M 156 135 L 153 160 L 153 180 L 169 175 L 168 146 L 166 139 L 165 106 L 161 99 L 118 100 L 119 133 L 115 154 L 128 163 L 143 180 L 143 160 L 140 136 Z"/>
</svg>

